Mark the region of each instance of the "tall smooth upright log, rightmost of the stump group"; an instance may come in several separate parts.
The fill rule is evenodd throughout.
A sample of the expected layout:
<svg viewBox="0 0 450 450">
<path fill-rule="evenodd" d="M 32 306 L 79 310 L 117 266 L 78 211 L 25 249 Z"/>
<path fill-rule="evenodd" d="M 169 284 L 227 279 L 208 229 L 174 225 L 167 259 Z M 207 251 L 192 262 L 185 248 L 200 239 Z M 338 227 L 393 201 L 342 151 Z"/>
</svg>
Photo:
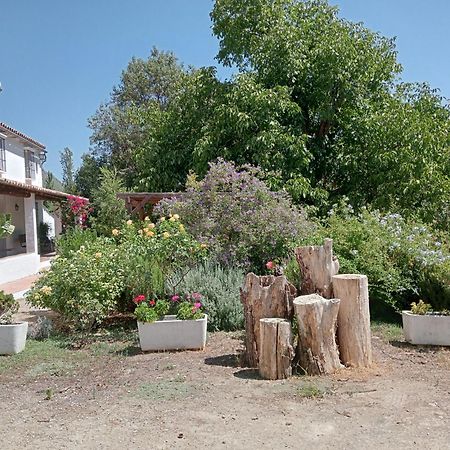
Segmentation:
<svg viewBox="0 0 450 450">
<path fill-rule="evenodd" d="M 341 361 L 346 366 L 372 364 L 369 288 L 365 275 L 335 275 L 333 291 L 341 304 L 338 314 L 338 341 Z"/>
</svg>

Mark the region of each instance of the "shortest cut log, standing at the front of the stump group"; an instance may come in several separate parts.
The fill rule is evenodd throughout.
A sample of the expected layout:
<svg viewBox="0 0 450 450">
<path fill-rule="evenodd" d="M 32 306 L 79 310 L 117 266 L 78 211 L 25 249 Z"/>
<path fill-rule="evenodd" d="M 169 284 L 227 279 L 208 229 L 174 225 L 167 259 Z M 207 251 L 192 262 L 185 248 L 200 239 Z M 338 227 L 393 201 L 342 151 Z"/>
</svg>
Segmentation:
<svg viewBox="0 0 450 450">
<path fill-rule="evenodd" d="M 286 319 L 260 320 L 259 374 L 266 380 L 281 380 L 292 375 L 294 357 L 291 323 Z"/>
</svg>

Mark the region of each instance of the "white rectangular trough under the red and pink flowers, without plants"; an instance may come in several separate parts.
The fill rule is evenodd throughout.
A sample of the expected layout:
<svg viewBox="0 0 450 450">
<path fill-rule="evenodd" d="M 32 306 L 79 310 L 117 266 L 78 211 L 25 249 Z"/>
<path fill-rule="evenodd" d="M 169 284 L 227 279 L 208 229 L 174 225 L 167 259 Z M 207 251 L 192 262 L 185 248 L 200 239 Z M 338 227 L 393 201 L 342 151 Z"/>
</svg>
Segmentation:
<svg viewBox="0 0 450 450">
<path fill-rule="evenodd" d="M 203 350 L 206 344 L 208 317 L 178 320 L 164 316 L 156 322 L 138 322 L 139 342 L 143 351 Z"/>
</svg>

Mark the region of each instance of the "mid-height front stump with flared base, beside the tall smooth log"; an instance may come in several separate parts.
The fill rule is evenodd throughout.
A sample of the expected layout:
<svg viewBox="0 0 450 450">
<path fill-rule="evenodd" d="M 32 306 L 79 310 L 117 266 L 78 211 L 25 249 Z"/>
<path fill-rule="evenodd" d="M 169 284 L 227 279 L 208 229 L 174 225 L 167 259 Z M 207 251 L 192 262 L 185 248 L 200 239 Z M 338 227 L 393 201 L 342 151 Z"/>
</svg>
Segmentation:
<svg viewBox="0 0 450 450">
<path fill-rule="evenodd" d="M 298 321 L 298 362 L 308 375 L 334 373 L 342 367 L 336 345 L 339 299 L 318 294 L 294 300 Z"/>
</svg>

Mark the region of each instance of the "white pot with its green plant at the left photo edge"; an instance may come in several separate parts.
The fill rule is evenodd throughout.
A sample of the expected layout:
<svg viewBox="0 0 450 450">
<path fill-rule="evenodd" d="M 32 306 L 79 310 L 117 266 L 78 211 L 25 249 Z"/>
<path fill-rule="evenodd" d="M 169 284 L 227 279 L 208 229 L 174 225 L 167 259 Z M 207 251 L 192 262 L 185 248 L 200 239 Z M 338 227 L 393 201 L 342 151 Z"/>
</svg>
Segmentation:
<svg viewBox="0 0 450 450">
<path fill-rule="evenodd" d="M 19 303 L 11 294 L 0 291 L 0 355 L 12 355 L 25 348 L 28 322 L 14 322 Z"/>
</svg>

